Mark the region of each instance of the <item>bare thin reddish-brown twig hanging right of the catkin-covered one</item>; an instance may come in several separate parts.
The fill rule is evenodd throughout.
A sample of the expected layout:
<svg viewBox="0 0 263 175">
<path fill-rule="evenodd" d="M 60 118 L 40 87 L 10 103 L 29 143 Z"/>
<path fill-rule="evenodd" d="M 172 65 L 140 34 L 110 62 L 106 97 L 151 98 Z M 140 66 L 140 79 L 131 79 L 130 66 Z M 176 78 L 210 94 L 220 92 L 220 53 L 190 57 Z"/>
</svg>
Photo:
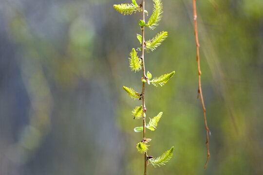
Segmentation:
<svg viewBox="0 0 263 175">
<path fill-rule="evenodd" d="M 196 14 L 196 0 L 193 0 L 193 16 L 194 16 L 194 35 L 195 35 L 195 42 L 196 42 L 196 54 L 197 54 L 197 66 L 198 66 L 198 97 L 200 94 L 202 106 L 203 106 L 203 111 L 204 111 L 204 118 L 205 118 L 205 125 L 206 125 L 206 130 L 207 130 L 207 162 L 210 157 L 209 153 L 209 142 L 208 142 L 208 134 L 210 133 L 208 126 L 207 126 L 207 117 L 206 117 L 206 107 L 204 103 L 204 98 L 203 98 L 203 93 L 202 93 L 202 88 L 201 88 L 201 69 L 200 69 L 200 56 L 199 56 L 199 42 L 198 42 L 198 34 L 197 34 L 197 14 Z M 205 164 L 205 169 L 207 168 L 207 162 Z"/>
</svg>

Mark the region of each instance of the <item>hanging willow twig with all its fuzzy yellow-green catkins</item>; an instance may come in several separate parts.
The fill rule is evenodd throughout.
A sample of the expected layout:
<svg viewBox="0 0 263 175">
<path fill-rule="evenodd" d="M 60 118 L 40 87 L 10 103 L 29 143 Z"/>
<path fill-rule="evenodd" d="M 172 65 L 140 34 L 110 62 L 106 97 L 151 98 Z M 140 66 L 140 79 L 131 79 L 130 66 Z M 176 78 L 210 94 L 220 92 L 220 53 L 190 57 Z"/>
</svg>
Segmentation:
<svg viewBox="0 0 263 175">
<path fill-rule="evenodd" d="M 140 0 L 141 1 L 141 0 Z M 163 153 L 160 157 L 152 157 L 148 156 L 149 152 L 149 146 L 148 142 L 150 142 L 151 139 L 146 139 L 146 128 L 150 131 L 155 131 L 157 128 L 157 125 L 163 115 L 163 112 L 159 112 L 155 117 L 150 118 L 149 123 L 146 124 L 146 103 L 145 103 L 145 86 L 153 85 L 154 87 L 163 87 L 168 83 L 170 78 L 174 75 L 174 71 L 156 76 L 152 78 L 152 74 L 150 71 L 147 71 L 147 74 L 145 72 L 145 55 L 144 50 L 147 52 L 155 51 L 159 46 L 163 43 L 163 41 L 167 38 L 168 33 L 167 32 L 160 32 L 157 33 L 155 36 L 153 36 L 151 39 L 146 40 L 144 38 L 145 29 L 149 27 L 151 30 L 154 30 L 158 25 L 159 21 L 162 19 L 163 16 L 163 3 L 161 0 L 153 0 L 153 9 L 152 9 L 152 15 L 150 16 L 149 20 L 146 22 L 145 20 L 145 13 L 148 15 L 148 12 L 145 10 L 145 0 L 142 0 L 141 4 L 137 4 L 136 0 L 132 0 L 132 3 L 125 3 L 125 4 L 118 4 L 113 5 L 115 10 L 117 12 L 120 12 L 124 15 L 132 15 L 133 13 L 136 13 L 137 11 L 142 11 L 142 19 L 139 19 L 139 24 L 137 23 L 138 27 L 141 28 L 142 35 L 137 34 L 136 37 L 139 41 L 138 45 L 140 47 L 137 47 L 135 50 L 134 48 L 131 50 L 130 57 L 129 57 L 129 67 L 131 71 L 134 71 L 135 73 L 142 70 L 142 92 L 136 92 L 133 88 L 123 87 L 123 89 L 128 93 L 128 95 L 131 97 L 131 99 L 137 99 L 142 100 L 142 105 L 135 106 L 133 110 L 131 111 L 131 115 L 133 116 L 133 119 L 142 119 L 143 126 L 135 127 L 133 130 L 136 133 L 142 132 L 143 133 L 143 139 L 136 144 L 137 151 L 141 154 L 144 154 L 145 158 L 145 167 L 144 167 L 144 175 L 147 174 L 147 165 L 150 163 L 152 166 L 161 166 L 165 165 L 172 157 L 173 149 L 174 147 L 171 147 L 170 150 Z M 141 52 L 141 56 L 138 56 L 137 52 Z M 148 59 L 147 59 L 148 60 Z M 150 59 L 149 59 L 150 60 Z M 162 59 L 164 60 L 164 59 Z M 157 63 L 159 64 L 159 63 Z M 147 84 L 146 84 L 147 83 Z"/>
</svg>

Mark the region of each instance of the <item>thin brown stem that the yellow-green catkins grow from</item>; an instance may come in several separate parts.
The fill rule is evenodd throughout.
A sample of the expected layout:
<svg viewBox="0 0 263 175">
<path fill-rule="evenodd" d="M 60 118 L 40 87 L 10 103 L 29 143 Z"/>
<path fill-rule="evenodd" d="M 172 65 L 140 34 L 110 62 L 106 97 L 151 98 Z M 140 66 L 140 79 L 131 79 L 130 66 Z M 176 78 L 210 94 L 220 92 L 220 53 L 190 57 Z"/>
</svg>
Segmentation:
<svg viewBox="0 0 263 175">
<path fill-rule="evenodd" d="M 144 15 L 144 5 L 145 1 L 142 0 L 141 7 L 142 7 L 142 20 L 145 21 L 145 15 Z M 145 75 L 145 64 L 144 64 L 144 26 L 142 27 L 142 65 L 143 65 L 143 78 L 147 79 Z M 145 91 L 145 83 L 142 83 L 142 102 L 143 102 L 143 111 L 146 112 L 146 106 L 145 106 L 145 99 L 144 99 L 144 91 Z M 145 115 L 143 117 L 143 139 L 145 139 Z M 144 175 L 147 175 L 147 153 L 144 153 Z"/>
</svg>

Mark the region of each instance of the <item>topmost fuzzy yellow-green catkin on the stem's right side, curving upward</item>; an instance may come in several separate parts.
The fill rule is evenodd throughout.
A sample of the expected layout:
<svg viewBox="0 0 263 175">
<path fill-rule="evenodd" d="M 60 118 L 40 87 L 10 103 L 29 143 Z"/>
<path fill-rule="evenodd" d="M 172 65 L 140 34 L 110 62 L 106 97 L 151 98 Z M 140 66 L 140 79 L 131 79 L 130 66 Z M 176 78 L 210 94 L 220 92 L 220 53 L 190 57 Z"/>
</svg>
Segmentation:
<svg viewBox="0 0 263 175">
<path fill-rule="evenodd" d="M 152 15 L 150 16 L 150 19 L 148 23 L 145 26 L 148 26 L 151 30 L 155 29 L 156 26 L 158 26 L 158 22 L 162 18 L 163 14 L 163 3 L 161 0 L 153 0 L 153 10 Z"/>
</svg>

